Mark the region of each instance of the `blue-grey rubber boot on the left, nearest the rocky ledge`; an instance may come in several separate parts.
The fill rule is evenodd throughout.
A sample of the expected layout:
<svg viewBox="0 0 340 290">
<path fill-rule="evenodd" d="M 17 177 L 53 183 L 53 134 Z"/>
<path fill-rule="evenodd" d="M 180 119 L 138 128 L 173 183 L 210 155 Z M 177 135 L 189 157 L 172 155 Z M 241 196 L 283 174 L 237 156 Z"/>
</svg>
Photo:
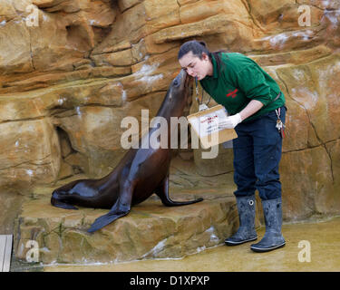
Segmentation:
<svg viewBox="0 0 340 290">
<path fill-rule="evenodd" d="M 238 231 L 225 240 L 227 246 L 237 246 L 246 242 L 255 241 L 255 195 L 237 197 L 239 227 Z"/>
</svg>

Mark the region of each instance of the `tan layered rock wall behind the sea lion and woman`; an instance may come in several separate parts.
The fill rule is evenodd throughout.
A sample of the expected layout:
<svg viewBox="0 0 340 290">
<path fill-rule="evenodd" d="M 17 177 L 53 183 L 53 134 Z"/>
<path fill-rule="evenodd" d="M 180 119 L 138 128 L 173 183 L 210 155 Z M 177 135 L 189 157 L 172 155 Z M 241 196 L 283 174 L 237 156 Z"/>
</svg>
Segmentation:
<svg viewBox="0 0 340 290">
<path fill-rule="evenodd" d="M 112 170 L 122 118 L 155 115 L 180 44 L 202 39 L 250 56 L 286 95 L 285 218 L 339 214 L 339 22 L 338 0 L 1 1 L 0 212 L 36 186 Z M 232 170 L 230 150 L 193 151 L 200 175 Z"/>
</svg>

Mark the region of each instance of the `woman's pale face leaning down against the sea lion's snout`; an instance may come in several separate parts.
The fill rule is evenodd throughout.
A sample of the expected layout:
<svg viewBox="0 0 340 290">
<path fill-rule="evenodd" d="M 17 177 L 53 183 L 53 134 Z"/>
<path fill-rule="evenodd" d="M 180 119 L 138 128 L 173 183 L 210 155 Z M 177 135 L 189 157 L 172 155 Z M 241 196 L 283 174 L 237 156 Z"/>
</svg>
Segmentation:
<svg viewBox="0 0 340 290">
<path fill-rule="evenodd" d="M 180 60 L 180 66 L 192 77 L 198 80 L 204 79 L 207 75 L 212 75 L 213 67 L 206 53 L 202 53 L 202 59 L 192 52 L 184 54 Z"/>
</svg>

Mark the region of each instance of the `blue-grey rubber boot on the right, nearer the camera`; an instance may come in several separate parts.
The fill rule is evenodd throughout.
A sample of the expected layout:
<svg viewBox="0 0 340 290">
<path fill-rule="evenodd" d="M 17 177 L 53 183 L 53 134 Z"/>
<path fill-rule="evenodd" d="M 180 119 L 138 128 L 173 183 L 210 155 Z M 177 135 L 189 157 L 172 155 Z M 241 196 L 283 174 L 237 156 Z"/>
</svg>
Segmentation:
<svg viewBox="0 0 340 290">
<path fill-rule="evenodd" d="M 281 198 L 262 200 L 265 215 L 266 233 L 257 243 L 250 246 L 254 252 L 268 252 L 286 245 L 281 234 L 282 207 Z"/>
</svg>

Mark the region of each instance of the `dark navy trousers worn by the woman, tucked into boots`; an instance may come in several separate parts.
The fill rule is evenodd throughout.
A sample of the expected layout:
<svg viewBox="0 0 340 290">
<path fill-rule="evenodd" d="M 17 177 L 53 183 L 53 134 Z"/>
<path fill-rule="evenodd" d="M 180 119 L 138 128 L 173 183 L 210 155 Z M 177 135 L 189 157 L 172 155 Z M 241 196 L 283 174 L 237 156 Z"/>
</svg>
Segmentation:
<svg viewBox="0 0 340 290">
<path fill-rule="evenodd" d="M 286 108 L 280 108 L 280 119 L 286 121 Z M 277 131 L 277 113 L 269 111 L 253 121 L 241 122 L 235 128 L 234 181 L 236 197 L 251 196 L 258 190 L 262 200 L 281 198 L 278 165 L 282 137 Z"/>
</svg>

